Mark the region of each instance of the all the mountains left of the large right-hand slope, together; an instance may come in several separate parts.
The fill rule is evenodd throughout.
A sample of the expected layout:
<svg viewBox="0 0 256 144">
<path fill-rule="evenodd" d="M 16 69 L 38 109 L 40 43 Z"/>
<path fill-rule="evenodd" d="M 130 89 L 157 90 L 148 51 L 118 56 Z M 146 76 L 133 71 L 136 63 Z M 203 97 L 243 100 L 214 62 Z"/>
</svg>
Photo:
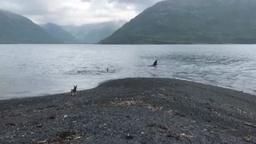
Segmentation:
<svg viewBox="0 0 256 144">
<path fill-rule="evenodd" d="M 82 26 L 38 26 L 19 14 L 0 10 L 0 44 L 18 43 L 97 43 L 113 34 L 125 21 L 102 22 Z"/>
</svg>

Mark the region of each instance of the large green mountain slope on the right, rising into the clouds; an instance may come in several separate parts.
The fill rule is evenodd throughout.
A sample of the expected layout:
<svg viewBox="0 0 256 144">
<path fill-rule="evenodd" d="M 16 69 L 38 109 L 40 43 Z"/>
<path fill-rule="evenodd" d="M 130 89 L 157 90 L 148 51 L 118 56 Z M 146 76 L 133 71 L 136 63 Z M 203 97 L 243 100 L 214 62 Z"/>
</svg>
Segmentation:
<svg viewBox="0 0 256 144">
<path fill-rule="evenodd" d="M 255 7 L 255 0 L 166 0 L 99 43 L 256 43 Z"/>
</svg>

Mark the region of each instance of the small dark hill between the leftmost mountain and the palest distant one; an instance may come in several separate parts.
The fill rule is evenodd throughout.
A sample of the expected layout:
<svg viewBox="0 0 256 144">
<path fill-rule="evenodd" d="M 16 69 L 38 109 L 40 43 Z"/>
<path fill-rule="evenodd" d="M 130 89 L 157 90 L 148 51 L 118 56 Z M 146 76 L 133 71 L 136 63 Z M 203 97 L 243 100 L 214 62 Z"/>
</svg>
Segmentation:
<svg viewBox="0 0 256 144">
<path fill-rule="evenodd" d="M 52 37 L 58 39 L 59 42 L 66 43 L 66 44 L 75 44 L 78 43 L 78 39 L 74 38 L 74 36 L 68 33 L 66 30 L 63 30 L 61 26 L 58 26 L 54 23 L 46 23 L 42 25 Z"/>
</svg>

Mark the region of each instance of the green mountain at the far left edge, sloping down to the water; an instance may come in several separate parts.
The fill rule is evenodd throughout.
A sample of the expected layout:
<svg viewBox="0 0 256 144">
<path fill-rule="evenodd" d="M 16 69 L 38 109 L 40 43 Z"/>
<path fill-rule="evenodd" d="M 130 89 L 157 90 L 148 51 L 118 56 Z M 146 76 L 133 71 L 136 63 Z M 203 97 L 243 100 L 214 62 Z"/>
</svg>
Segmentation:
<svg viewBox="0 0 256 144">
<path fill-rule="evenodd" d="M 0 10 L 0 43 L 59 43 L 30 19 Z"/>
</svg>

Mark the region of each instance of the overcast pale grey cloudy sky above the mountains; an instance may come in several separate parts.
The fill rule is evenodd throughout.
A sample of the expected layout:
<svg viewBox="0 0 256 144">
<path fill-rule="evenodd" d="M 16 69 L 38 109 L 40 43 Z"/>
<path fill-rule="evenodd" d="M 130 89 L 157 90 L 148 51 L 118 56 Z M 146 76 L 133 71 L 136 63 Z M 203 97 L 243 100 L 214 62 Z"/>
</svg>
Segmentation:
<svg viewBox="0 0 256 144">
<path fill-rule="evenodd" d="M 82 25 L 129 21 L 161 0 L 0 0 L 0 9 L 21 14 L 38 24 Z"/>
</svg>

